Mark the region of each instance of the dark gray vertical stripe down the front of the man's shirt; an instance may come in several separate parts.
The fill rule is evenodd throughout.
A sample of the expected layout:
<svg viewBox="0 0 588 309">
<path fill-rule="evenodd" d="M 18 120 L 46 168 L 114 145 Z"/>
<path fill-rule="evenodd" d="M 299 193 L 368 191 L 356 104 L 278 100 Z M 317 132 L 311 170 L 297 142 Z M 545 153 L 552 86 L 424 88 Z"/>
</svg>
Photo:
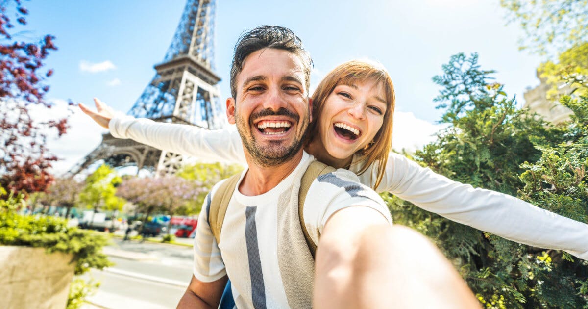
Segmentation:
<svg viewBox="0 0 588 309">
<path fill-rule="evenodd" d="M 263 273 L 261 270 L 261 261 L 259 260 L 259 245 L 255 224 L 256 210 L 256 207 L 247 207 L 245 210 L 247 220 L 245 222 L 245 241 L 247 242 L 253 307 L 256 309 L 265 309 L 265 285 L 263 285 Z"/>
</svg>

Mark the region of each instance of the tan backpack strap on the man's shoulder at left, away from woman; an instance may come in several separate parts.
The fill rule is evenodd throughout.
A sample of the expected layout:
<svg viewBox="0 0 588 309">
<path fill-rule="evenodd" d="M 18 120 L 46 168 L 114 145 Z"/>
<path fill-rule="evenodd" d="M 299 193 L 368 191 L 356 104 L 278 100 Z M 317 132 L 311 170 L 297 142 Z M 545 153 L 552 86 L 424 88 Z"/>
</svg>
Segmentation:
<svg viewBox="0 0 588 309">
<path fill-rule="evenodd" d="M 212 235 L 215 237 L 217 245 L 220 244 L 220 229 L 222 222 L 225 221 L 226 208 L 229 207 L 230 198 L 233 196 L 240 177 L 241 173 L 238 173 L 227 178 L 212 197 L 211 208 L 208 212 L 208 224 L 211 225 Z"/>
</svg>

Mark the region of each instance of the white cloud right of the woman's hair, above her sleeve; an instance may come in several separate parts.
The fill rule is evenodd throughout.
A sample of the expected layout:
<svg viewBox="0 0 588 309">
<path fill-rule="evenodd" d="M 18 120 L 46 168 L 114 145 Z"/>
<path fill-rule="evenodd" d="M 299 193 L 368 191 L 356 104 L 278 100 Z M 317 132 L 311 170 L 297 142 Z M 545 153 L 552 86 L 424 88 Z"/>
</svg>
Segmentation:
<svg viewBox="0 0 588 309">
<path fill-rule="evenodd" d="M 429 142 L 435 141 L 434 135 L 446 125 L 432 124 L 418 119 L 412 112 L 395 112 L 392 131 L 392 148 L 396 151 L 405 149 L 414 152 Z"/>
</svg>

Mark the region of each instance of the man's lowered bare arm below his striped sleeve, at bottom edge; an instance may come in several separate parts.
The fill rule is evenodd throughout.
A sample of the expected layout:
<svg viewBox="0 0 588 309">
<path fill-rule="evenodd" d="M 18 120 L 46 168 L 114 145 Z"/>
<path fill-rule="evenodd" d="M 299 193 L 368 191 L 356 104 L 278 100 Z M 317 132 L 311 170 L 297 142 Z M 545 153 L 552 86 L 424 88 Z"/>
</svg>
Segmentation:
<svg viewBox="0 0 588 309">
<path fill-rule="evenodd" d="M 202 282 L 192 275 L 190 285 L 177 308 L 218 308 L 227 280 L 225 275 L 216 281 Z"/>
</svg>

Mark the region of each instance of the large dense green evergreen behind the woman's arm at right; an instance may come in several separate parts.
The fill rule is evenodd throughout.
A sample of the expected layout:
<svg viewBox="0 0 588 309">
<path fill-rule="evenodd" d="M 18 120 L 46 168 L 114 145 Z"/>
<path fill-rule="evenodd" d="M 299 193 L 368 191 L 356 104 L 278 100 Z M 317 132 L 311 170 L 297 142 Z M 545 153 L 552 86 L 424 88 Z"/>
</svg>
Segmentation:
<svg viewBox="0 0 588 309">
<path fill-rule="evenodd" d="M 550 127 L 516 109 L 515 101 L 507 98 L 502 85 L 493 82 L 490 74 L 492 71 L 479 68 L 476 55 L 458 54 L 443 66 L 443 75 L 433 78 L 442 86 L 435 100 L 439 108 L 446 109 L 442 122 L 450 127 L 439 134 L 436 142 L 417 151 L 416 161 L 454 180 L 506 194 L 518 193 L 539 207 L 586 222 L 586 185 L 579 181 L 585 168 L 578 165 L 585 164 L 586 157 L 572 155 L 582 147 L 586 152 L 586 140 L 571 146 L 576 139 L 582 139 L 577 138 L 579 133 L 574 133 L 576 139 L 571 137 L 579 125 Z M 575 111 L 588 113 L 585 105 Z M 573 148 L 566 152 L 572 165 L 544 151 L 563 145 Z M 546 171 L 553 160 L 563 164 L 555 169 L 559 174 Z M 563 176 L 566 172 L 567 178 Z M 575 193 L 564 190 L 557 197 L 547 198 L 543 191 L 552 192 L 550 181 L 554 180 L 562 181 L 557 186 Z M 395 222 L 413 227 L 435 241 L 485 307 L 588 306 L 586 261 L 572 262 L 568 254 L 517 244 L 430 214 L 398 198 L 385 198 Z"/>
</svg>

